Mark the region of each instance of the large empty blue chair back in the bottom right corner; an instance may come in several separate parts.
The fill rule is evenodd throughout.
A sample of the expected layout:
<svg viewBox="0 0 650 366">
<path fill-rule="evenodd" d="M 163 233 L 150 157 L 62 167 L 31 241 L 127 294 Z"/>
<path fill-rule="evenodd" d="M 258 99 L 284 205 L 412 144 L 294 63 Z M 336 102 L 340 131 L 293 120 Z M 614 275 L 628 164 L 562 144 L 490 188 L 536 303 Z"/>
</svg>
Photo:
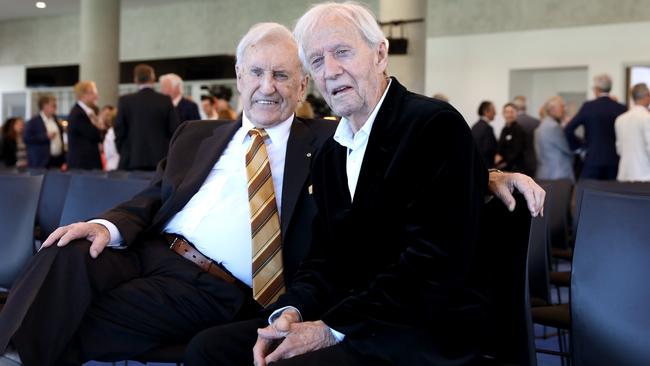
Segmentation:
<svg viewBox="0 0 650 366">
<path fill-rule="evenodd" d="M 650 197 L 585 190 L 571 274 L 574 365 L 650 365 Z"/>
</svg>

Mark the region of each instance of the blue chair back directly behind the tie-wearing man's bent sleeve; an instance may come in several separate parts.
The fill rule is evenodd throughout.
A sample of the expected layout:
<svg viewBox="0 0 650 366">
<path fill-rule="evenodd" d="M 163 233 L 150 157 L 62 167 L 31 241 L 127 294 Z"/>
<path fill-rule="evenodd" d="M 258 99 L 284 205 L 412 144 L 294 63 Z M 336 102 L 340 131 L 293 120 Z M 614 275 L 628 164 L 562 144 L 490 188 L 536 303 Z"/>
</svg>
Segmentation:
<svg viewBox="0 0 650 366">
<path fill-rule="evenodd" d="M 91 219 L 145 189 L 147 181 L 73 175 L 60 225 Z"/>
</svg>

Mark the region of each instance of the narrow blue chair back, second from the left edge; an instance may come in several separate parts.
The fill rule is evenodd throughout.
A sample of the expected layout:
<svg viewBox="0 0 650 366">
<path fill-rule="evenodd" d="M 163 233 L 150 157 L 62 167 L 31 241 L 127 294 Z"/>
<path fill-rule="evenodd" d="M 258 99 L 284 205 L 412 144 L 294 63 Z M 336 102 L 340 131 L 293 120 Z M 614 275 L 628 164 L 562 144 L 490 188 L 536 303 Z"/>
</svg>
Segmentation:
<svg viewBox="0 0 650 366">
<path fill-rule="evenodd" d="M 41 229 L 40 238 L 45 240 L 61 222 L 65 196 L 68 193 L 70 175 L 50 171 L 45 175 L 41 198 L 38 201 L 36 222 Z"/>
</svg>

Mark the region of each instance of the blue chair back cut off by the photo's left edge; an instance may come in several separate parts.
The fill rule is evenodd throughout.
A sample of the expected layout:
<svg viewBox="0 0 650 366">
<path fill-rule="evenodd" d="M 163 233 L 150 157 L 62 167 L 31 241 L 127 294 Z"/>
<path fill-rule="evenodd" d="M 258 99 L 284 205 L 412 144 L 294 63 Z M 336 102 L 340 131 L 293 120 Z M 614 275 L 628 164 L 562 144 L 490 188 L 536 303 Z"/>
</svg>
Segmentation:
<svg viewBox="0 0 650 366">
<path fill-rule="evenodd" d="M 32 256 L 43 176 L 0 176 L 0 287 L 10 288 Z"/>
</svg>

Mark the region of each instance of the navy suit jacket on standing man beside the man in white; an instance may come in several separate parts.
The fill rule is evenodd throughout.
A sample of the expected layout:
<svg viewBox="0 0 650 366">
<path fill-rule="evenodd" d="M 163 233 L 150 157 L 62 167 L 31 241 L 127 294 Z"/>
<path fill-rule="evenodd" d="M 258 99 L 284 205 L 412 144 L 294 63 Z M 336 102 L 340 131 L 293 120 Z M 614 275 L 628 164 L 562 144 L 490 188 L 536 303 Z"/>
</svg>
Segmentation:
<svg viewBox="0 0 650 366">
<path fill-rule="evenodd" d="M 585 102 L 564 128 L 571 149 L 587 148 L 585 166 L 618 166 L 614 122 L 625 111 L 624 105 L 610 97 L 598 97 Z M 578 126 L 585 128 L 584 141 L 575 135 Z"/>
</svg>

